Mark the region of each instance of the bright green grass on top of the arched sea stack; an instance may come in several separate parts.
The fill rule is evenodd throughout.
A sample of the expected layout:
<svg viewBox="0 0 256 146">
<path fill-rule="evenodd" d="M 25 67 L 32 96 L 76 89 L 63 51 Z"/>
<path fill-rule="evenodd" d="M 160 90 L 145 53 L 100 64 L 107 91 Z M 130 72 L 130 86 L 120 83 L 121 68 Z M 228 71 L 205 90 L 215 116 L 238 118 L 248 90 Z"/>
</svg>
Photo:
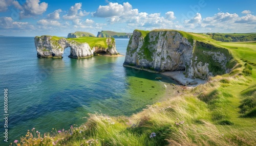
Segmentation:
<svg viewBox="0 0 256 146">
<path fill-rule="evenodd" d="M 86 42 L 90 45 L 90 47 L 94 46 L 101 46 L 104 48 L 108 47 L 108 44 L 106 44 L 107 38 L 98 38 L 98 37 L 79 37 L 79 38 L 67 38 L 67 40 L 74 40 L 77 42 Z M 112 42 L 114 41 L 114 38 L 111 38 Z"/>
</svg>

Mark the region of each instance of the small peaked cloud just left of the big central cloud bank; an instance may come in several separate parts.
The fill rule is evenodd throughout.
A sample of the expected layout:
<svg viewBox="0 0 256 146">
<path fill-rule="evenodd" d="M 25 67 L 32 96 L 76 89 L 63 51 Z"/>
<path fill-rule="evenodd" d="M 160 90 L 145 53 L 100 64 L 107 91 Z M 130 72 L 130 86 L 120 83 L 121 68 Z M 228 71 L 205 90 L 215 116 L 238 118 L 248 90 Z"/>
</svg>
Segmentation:
<svg viewBox="0 0 256 146">
<path fill-rule="evenodd" d="M 75 20 L 79 17 L 87 16 L 90 14 L 89 12 L 82 11 L 81 7 L 82 3 L 76 3 L 74 6 L 71 6 L 68 11 L 68 14 L 64 15 L 63 18 L 66 20 Z"/>
</svg>

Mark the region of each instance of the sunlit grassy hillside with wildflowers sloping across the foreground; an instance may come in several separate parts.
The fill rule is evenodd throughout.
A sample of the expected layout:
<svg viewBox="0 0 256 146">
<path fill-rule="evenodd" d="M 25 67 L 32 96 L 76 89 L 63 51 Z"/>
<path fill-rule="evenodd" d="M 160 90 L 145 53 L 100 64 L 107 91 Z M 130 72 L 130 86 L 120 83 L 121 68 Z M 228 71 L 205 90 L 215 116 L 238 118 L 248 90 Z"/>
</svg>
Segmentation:
<svg viewBox="0 0 256 146">
<path fill-rule="evenodd" d="M 146 33 L 146 32 L 145 32 Z M 144 34 L 144 33 L 143 33 Z M 188 33 L 191 39 L 201 34 Z M 211 41 L 206 36 L 200 38 Z M 229 74 L 196 88 L 177 87 L 175 97 L 131 117 L 91 114 L 68 131 L 40 135 L 33 130 L 22 145 L 256 145 L 256 42 L 226 43 L 237 60 Z M 251 71 L 251 72 L 250 72 Z M 249 74 L 251 73 L 251 74 Z M 168 84 L 168 88 L 174 85 Z"/>
</svg>

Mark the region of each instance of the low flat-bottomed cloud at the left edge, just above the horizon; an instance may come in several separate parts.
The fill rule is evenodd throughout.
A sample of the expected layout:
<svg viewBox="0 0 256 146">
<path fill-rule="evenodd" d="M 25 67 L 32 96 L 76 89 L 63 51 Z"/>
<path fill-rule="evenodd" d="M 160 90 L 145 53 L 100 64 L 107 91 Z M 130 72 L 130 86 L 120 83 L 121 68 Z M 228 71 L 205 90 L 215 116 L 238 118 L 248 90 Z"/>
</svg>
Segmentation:
<svg viewBox="0 0 256 146">
<path fill-rule="evenodd" d="M 0 29 L 33 29 L 29 22 L 17 22 L 11 17 L 0 17 Z"/>
</svg>

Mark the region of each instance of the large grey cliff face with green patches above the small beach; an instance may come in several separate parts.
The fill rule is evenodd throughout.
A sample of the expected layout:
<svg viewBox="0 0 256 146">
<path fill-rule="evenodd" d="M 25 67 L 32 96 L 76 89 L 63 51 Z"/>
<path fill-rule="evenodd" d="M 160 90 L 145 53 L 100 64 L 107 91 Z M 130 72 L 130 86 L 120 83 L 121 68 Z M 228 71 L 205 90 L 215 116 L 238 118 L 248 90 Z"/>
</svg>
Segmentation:
<svg viewBox="0 0 256 146">
<path fill-rule="evenodd" d="M 155 71 L 185 70 L 186 77 L 206 80 L 230 71 L 225 48 L 189 40 L 178 31 L 135 30 L 127 46 L 124 66 Z"/>
</svg>

